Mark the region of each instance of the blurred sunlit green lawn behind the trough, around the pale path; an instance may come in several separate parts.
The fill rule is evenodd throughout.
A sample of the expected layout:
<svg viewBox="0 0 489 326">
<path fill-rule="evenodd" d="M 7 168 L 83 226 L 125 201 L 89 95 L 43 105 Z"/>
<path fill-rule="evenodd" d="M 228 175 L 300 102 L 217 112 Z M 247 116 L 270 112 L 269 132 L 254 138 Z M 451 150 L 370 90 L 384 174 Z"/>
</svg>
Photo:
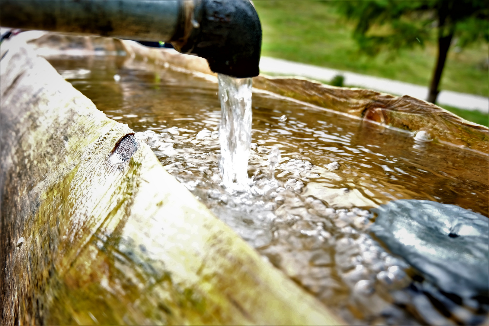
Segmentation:
<svg viewBox="0 0 489 326">
<path fill-rule="evenodd" d="M 254 0 L 263 28 L 262 55 L 311 65 L 428 86 L 437 45 L 381 53 L 358 52 L 353 23 L 336 12 L 330 1 Z M 473 44 L 448 53 L 441 89 L 489 96 L 489 44 Z M 489 100 L 488 100 L 489 101 Z M 489 126 L 489 114 L 443 106 L 469 121 Z"/>
</svg>

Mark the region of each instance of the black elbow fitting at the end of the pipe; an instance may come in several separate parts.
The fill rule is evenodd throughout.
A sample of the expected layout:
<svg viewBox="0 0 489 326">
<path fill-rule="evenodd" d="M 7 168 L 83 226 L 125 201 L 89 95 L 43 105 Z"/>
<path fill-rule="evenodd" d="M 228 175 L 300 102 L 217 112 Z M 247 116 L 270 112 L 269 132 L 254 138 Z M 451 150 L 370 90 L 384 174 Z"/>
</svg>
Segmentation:
<svg viewBox="0 0 489 326">
<path fill-rule="evenodd" d="M 214 72 L 258 76 L 262 26 L 251 2 L 202 0 L 193 5 L 182 13 L 186 17 L 170 43 L 181 53 L 207 59 Z"/>
</svg>

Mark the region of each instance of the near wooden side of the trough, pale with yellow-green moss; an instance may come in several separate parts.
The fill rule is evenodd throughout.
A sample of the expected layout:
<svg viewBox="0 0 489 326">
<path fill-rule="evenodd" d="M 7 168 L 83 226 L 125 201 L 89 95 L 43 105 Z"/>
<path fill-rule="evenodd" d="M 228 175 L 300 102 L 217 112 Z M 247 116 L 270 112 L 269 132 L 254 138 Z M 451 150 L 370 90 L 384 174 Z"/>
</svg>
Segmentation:
<svg viewBox="0 0 489 326">
<path fill-rule="evenodd" d="M 0 55 L 0 324 L 342 324 L 30 46 Z"/>
</svg>

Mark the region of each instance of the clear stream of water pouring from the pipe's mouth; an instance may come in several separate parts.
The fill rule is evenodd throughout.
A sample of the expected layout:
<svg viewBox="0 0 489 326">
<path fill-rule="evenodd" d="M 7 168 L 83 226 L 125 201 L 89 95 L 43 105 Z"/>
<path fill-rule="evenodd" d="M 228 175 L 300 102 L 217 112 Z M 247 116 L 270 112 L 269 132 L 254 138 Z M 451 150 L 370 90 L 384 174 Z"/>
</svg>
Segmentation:
<svg viewBox="0 0 489 326">
<path fill-rule="evenodd" d="M 218 74 L 222 119 L 220 170 L 226 189 L 242 190 L 248 181 L 251 144 L 251 78 Z"/>
</svg>

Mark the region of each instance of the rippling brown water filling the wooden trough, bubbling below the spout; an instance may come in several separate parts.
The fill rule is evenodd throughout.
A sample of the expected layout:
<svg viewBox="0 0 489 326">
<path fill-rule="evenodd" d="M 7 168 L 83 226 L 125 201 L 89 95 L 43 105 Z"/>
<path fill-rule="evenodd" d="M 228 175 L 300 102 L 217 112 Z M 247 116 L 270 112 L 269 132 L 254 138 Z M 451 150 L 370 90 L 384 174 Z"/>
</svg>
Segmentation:
<svg viewBox="0 0 489 326">
<path fill-rule="evenodd" d="M 247 174 L 223 179 L 221 85 L 122 61 L 50 59 L 98 109 L 135 130 L 217 217 L 348 323 L 487 323 L 487 296 L 441 291 L 378 242 L 367 211 L 427 199 L 487 217 L 487 156 L 254 91 Z M 246 106 L 240 114 L 251 118 Z M 245 179 L 248 191 L 222 186 Z"/>
</svg>

